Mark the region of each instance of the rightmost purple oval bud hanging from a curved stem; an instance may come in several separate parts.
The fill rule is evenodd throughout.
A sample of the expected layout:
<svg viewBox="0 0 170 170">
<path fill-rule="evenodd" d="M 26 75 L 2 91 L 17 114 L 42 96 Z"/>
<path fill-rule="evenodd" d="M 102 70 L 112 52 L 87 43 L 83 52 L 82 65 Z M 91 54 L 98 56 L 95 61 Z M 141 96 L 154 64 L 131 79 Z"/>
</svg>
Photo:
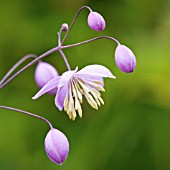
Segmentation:
<svg viewBox="0 0 170 170">
<path fill-rule="evenodd" d="M 136 67 L 136 58 L 126 46 L 119 44 L 115 51 L 115 61 L 119 69 L 125 73 L 133 72 Z"/>
</svg>

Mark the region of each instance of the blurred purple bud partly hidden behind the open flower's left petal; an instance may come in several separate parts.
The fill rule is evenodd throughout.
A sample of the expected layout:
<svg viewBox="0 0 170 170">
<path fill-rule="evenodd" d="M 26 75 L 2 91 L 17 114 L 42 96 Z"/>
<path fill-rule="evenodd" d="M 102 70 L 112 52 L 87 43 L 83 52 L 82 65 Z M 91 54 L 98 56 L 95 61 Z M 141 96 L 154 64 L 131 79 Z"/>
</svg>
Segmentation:
<svg viewBox="0 0 170 170">
<path fill-rule="evenodd" d="M 46 62 L 40 61 L 35 69 L 35 81 L 39 88 L 46 85 L 51 79 L 58 76 L 57 70 Z M 49 94 L 55 94 L 56 88 L 48 92 Z"/>
</svg>

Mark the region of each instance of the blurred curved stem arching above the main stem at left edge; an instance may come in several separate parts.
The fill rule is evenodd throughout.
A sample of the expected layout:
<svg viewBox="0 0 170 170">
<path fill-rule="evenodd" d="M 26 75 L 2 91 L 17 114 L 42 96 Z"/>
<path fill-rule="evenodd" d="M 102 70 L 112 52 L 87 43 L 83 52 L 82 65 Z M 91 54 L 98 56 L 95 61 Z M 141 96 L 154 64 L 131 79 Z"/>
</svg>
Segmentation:
<svg viewBox="0 0 170 170">
<path fill-rule="evenodd" d="M 7 73 L 6 75 L 2 78 L 2 80 L 0 81 L 0 86 L 2 85 L 2 83 L 10 76 L 10 74 L 12 74 L 12 72 L 18 67 L 20 66 L 24 61 L 26 61 L 29 58 L 36 58 L 37 56 L 35 54 L 28 54 L 26 56 L 24 56 L 22 59 L 20 59 Z"/>
</svg>

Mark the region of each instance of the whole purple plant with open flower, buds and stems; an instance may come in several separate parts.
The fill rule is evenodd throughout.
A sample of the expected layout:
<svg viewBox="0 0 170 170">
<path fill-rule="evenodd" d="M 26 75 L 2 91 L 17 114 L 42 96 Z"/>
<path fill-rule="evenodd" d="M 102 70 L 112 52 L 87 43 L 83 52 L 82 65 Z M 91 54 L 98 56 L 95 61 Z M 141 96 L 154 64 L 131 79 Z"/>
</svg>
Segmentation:
<svg viewBox="0 0 170 170">
<path fill-rule="evenodd" d="M 98 64 L 86 66 L 80 69 L 79 71 L 77 66 L 75 69 L 72 70 L 67 61 L 67 57 L 63 52 L 63 49 L 83 45 L 102 38 L 112 40 L 117 43 L 117 47 L 115 50 L 115 63 L 118 68 L 125 73 L 130 73 L 134 71 L 136 67 L 136 58 L 133 52 L 128 47 L 120 44 L 118 40 L 109 36 L 95 37 L 86 41 L 78 42 L 76 44 L 64 46 L 63 43 L 65 42 L 68 34 L 70 33 L 79 13 L 83 9 L 89 10 L 87 22 L 92 30 L 103 31 L 105 29 L 106 22 L 98 12 L 92 11 L 92 9 L 88 6 L 80 8 L 70 26 L 68 26 L 67 23 L 62 24 L 61 29 L 58 32 L 58 46 L 52 48 L 51 50 L 40 55 L 39 57 L 32 54 L 23 57 L 9 70 L 9 72 L 0 81 L 0 90 L 5 87 L 12 79 L 21 74 L 25 69 L 38 62 L 34 76 L 35 82 L 40 88 L 40 90 L 35 94 L 34 97 L 32 97 L 32 99 L 37 99 L 45 93 L 55 95 L 56 107 L 60 111 L 64 109 L 68 114 L 69 118 L 72 120 L 75 120 L 77 115 L 82 117 L 82 104 L 84 98 L 86 98 L 89 105 L 96 110 L 101 106 L 101 104 L 104 104 L 100 93 L 102 91 L 105 91 L 103 78 L 114 79 L 115 76 L 108 68 Z M 62 32 L 65 32 L 65 36 L 63 39 L 61 39 Z M 61 75 L 58 74 L 58 71 L 54 66 L 42 61 L 44 57 L 56 51 L 61 54 L 68 69 Z M 16 72 L 13 76 L 8 78 L 11 73 L 28 58 L 33 58 L 33 60 L 21 70 Z M 8 106 L 0 105 L 0 108 L 21 112 L 29 116 L 39 118 L 48 123 L 50 126 L 50 131 L 48 132 L 45 138 L 45 151 L 50 160 L 54 163 L 61 165 L 62 162 L 65 161 L 69 153 L 68 139 L 62 132 L 53 128 L 53 126 L 47 119 Z"/>
</svg>

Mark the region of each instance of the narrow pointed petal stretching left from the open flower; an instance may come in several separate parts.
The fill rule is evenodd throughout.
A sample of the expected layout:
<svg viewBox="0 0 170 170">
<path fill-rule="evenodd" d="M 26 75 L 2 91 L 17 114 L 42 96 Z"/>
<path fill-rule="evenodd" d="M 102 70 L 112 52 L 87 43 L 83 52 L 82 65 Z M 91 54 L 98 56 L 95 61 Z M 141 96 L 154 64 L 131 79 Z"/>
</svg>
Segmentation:
<svg viewBox="0 0 170 170">
<path fill-rule="evenodd" d="M 57 87 L 60 78 L 61 77 L 59 76 L 59 77 L 56 77 L 56 78 L 53 78 L 52 80 L 50 80 L 34 97 L 32 97 L 32 99 L 37 99 L 44 93 L 47 93 L 48 91 Z"/>
</svg>

